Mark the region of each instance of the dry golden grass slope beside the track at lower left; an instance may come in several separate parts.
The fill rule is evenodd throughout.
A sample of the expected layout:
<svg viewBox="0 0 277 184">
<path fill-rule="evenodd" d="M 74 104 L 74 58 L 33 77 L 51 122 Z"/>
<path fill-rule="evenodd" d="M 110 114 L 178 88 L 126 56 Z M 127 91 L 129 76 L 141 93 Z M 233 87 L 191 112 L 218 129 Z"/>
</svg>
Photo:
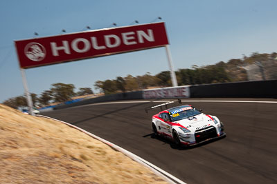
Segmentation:
<svg viewBox="0 0 277 184">
<path fill-rule="evenodd" d="M 0 183 L 166 183 L 63 123 L 0 104 Z"/>
</svg>

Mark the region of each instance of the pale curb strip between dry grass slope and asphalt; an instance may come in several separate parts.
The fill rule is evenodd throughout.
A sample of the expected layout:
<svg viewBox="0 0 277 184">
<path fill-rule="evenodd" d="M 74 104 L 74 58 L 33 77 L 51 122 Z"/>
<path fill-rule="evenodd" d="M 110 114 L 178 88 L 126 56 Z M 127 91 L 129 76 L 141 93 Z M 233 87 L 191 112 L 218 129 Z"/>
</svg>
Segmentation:
<svg viewBox="0 0 277 184">
<path fill-rule="evenodd" d="M 64 123 L 66 125 L 69 125 L 70 127 L 73 127 L 77 130 L 80 130 L 81 132 L 93 137 L 94 139 L 97 139 L 99 141 L 101 141 L 102 143 L 105 143 L 107 145 L 109 145 L 110 147 L 112 147 L 114 150 L 118 150 L 119 152 L 122 152 L 123 154 L 125 154 L 126 156 L 129 156 L 129 158 L 133 159 L 134 161 L 141 163 L 142 165 L 145 165 L 146 167 L 150 168 L 150 170 L 152 170 L 152 172 L 154 172 L 155 174 L 157 174 L 158 176 L 160 176 L 161 178 L 163 178 L 163 180 L 165 180 L 168 183 L 180 183 L 180 184 L 186 184 L 184 183 L 184 181 L 181 181 L 179 178 L 176 178 L 175 176 L 172 176 L 172 174 L 169 174 L 168 172 L 162 170 L 161 168 L 157 167 L 156 165 L 153 165 L 152 163 L 145 161 L 144 159 L 142 159 L 141 157 L 137 156 L 136 154 L 133 154 L 132 152 L 129 152 L 125 149 L 123 149 L 122 147 L 119 147 L 118 145 L 115 145 L 114 143 L 111 143 L 105 139 L 100 138 L 99 136 L 96 136 L 94 134 L 91 134 L 90 132 L 87 132 L 86 130 L 83 130 L 80 127 L 76 127 L 75 125 L 71 125 L 70 123 L 66 123 L 64 121 L 60 121 L 57 119 L 53 119 L 51 117 L 48 116 L 43 116 L 43 115 L 37 115 L 39 117 L 44 117 L 47 119 L 52 119 L 55 121 L 59 121 L 61 123 Z"/>
</svg>

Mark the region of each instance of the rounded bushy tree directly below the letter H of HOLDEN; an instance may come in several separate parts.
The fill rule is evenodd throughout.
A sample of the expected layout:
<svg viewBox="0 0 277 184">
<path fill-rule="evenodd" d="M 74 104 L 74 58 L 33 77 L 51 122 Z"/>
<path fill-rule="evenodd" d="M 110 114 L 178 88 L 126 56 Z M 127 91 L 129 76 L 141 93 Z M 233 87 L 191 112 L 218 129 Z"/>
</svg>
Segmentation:
<svg viewBox="0 0 277 184">
<path fill-rule="evenodd" d="M 68 101 L 75 96 L 75 86 L 73 84 L 53 83 L 52 86 L 51 94 L 55 102 Z"/>
</svg>

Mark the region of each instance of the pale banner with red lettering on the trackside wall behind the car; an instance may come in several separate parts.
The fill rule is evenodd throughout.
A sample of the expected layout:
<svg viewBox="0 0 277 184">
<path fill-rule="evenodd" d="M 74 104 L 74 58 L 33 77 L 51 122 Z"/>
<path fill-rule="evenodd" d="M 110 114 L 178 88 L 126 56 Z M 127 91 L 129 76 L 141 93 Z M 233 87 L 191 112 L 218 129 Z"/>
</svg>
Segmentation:
<svg viewBox="0 0 277 184">
<path fill-rule="evenodd" d="M 143 90 L 143 99 L 190 98 L 190 86 Z"/>
</svg>

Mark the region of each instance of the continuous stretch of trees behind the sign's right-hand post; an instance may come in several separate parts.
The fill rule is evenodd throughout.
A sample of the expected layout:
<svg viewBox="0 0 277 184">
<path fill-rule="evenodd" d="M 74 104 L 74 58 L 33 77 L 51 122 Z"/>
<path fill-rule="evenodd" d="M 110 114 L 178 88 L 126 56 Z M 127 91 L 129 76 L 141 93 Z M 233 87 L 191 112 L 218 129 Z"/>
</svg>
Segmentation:
<svg viewBox="0 0 277 184">
<path fill-rule="evenodd" d="M 175 71 L 175 74 L 178 85 L 247 81 L 247 71 L 243 68 L 245 65 L 253 64 L 256 61 L 267 62 L 276 59 L 276 57 L 276 52 L 272 54 L 254 52 L 250 57 L 244 55 L 242 59 L 230 59 L 227 63 L 220 61 L 215 65 L 201 67 L 193 65 L 190 69 L 179 69 Z M 132 75 L 127 75 L 124 78 L 118 76 L 114 80 L 96 81 L 94 86 L 105 94 L 112 94 L 151 87 L 168 87 L 172 86 L 172 83 L 170 71 L 163 71 L 156 75 L 151 75 L 147 72 L 142 76 L 136 77 Z"/>
</svg>

